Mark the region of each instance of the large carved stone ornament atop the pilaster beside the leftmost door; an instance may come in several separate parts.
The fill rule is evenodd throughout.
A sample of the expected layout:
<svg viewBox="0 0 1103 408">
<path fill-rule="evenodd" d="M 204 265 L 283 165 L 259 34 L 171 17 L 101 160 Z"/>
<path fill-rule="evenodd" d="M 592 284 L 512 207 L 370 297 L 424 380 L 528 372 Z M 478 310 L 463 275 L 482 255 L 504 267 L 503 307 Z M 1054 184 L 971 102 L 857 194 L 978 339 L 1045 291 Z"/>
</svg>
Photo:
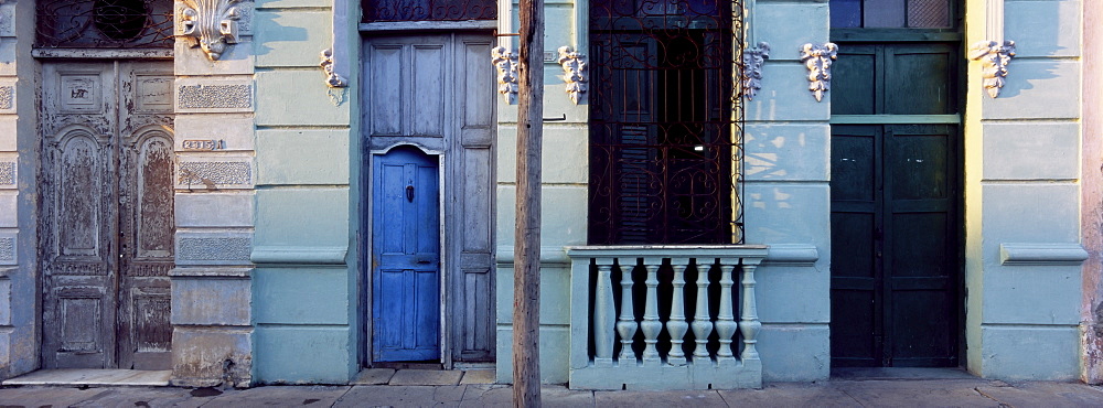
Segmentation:
<svg viewBox="0 0 1103 408">
<path fill-rule="evenodd" d="M 217 61 L 226 44 L 237 44 L 237 20 L 240 11 L 234 4 L 240 0 L 183 0 L 181 19 L 183 35 L 199 46 L 211 61 Z"/>
</svg>

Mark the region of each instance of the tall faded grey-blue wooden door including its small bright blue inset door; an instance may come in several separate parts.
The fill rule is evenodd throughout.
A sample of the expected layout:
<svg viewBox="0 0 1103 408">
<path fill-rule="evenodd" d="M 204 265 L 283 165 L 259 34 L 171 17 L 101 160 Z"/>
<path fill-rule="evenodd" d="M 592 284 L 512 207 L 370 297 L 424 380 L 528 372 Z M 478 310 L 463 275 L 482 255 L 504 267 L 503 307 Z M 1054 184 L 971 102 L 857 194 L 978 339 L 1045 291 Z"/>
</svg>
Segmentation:
<svg viewBox="0 0 1103 408">
<path fill-rule="evenodd" d="M 492 46 L 460 33 L 365 41 L 367 363 L 493 358 Z"/>
</svg>

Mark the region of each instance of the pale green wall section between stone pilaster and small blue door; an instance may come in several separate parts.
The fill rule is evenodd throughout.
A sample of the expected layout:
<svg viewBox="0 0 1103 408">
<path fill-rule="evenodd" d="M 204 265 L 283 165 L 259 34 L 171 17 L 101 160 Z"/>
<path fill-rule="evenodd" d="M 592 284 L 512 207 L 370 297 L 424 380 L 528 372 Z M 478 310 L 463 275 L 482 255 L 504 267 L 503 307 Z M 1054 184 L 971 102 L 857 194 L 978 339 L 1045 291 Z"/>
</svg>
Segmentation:
<svg viewBox="0 0 1103 408">
<path fill-rule="evenodd" d="M 342 384 L 358 369 L 357 167 L 351 90 L 325 86 L 318 67 L 332 42 L 332 1 L 256 7 L 254 378 Z"/>
</svg>

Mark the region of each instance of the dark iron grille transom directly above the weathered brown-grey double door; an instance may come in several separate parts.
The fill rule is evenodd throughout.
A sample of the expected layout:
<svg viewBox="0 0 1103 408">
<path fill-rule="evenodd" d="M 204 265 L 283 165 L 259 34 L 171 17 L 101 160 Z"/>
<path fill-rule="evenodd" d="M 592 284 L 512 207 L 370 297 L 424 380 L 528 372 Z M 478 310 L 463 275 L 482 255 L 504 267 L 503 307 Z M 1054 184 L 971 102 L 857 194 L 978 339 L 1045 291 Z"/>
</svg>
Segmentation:
<svg viewBox="0 0 1103 408">
<path fill-rule="evenodd" d="M 171 0 L 38 2 L 39 47 L 171 49 Z"/>
</svg>

